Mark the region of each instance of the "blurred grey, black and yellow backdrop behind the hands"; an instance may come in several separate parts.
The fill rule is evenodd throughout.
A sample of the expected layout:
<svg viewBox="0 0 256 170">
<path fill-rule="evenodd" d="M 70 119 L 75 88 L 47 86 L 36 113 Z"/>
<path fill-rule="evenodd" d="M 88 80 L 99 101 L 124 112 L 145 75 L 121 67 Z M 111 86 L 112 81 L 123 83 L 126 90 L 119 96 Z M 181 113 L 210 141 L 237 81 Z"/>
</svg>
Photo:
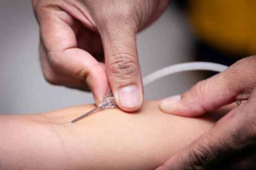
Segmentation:
<svg viewBox="0 0 256 170">
<path fill-rule="evenodd" d="M 239 3 L 235 3 L 237 6 L 229 5 L 236 0 L 192 2 L 195 3 L 172 1 L 154 25 L 138 34 L 137 45 L 143 77 L 180 62 L 201 60 L 230 65 L 252 53 L 253 48 L 247 48 L 246 44 L 249 31 L 245 35 L 241 30 L 245 27 L 255 28 L 253 26 L 256 22 L 241 26 L 235 18 L 240 17 L 243 23 L 249 22 L 248 19 L 244 22 L 243 17 L 250 16 L 250 10 L 240 11 L 245 13 L 241 16 L 236 8 L 251 7 Z M 228 15 L 222 14 L 219 9 Z M 236 19 L 236 23 L 230 21 L 230 17 Z M 229 34 L 226 37 L 222 36 L 227 32 Z M 232 33 L 238 38 L 234 39 Z M 31 0 L 1 0 L 0 114 L 41 113 L 93 103 L 90 93 L 53 86 L 44 80 L 38 57 L 38 42 L 38 24 L 33 15 Z M 145 87 L 145 99 L 181 94 L 199 80 L 213 74 L 184 72 L 164 77 Z"/>
</svg>

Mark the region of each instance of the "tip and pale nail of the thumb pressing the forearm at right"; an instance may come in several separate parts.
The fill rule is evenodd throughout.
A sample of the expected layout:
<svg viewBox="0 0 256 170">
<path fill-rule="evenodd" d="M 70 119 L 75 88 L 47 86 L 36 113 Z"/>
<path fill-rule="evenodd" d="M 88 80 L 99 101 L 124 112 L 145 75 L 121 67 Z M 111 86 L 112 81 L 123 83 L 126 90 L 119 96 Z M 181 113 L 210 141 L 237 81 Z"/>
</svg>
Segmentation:
<svg viewBox="0 0 256 170">
<path fill-rule="evenodd" d="M 181 95 L 176 95 L 163 99 L 160 103 L 160 108 L 164 112 L 172 113 L 175 109 L 175 104 L 180 101 Z"/>
</svg>

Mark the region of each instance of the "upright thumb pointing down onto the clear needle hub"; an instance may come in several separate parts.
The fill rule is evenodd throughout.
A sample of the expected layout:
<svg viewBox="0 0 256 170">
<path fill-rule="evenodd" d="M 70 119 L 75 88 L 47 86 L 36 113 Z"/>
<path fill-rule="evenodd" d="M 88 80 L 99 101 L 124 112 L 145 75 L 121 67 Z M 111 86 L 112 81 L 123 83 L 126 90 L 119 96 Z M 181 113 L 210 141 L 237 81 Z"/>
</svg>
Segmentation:
<svg viewBox="0 0 256 170">
<path fill-rule="evenodd" d="M 108 81 L 119 108 L 124 111 L 137 111 L 144 98 L 137 54 L 137 27 L 131 18 L 118 18 L 117 21 L 105 21 L 99 27 Z"/>
</svg>

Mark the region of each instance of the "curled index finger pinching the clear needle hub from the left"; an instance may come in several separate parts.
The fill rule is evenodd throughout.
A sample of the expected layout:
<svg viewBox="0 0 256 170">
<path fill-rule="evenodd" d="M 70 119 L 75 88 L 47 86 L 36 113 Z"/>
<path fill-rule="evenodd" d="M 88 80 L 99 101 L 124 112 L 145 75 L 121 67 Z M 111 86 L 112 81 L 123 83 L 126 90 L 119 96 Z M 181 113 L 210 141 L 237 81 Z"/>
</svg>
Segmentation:
<svg viewBox="0 0 256 170">
<path fill-rule="evenodd" d="M 76 21 L 64 11 L 40 8 L 41 39 L 51 67 L 62 74 L 85 80 L 98 104 L 108 91 L 105 69 L 87 51 L 77 48 Z"/>
</svg>

